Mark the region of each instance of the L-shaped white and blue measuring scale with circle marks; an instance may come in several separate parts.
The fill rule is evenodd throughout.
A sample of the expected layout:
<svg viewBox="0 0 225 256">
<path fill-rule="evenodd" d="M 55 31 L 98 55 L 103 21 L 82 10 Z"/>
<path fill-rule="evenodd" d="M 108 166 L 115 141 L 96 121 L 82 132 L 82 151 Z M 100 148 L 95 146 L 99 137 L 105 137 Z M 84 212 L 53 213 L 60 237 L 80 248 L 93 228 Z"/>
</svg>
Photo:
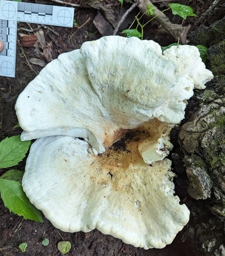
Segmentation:
<svg viewBox="0 0 225 256">
<path fill-rule="evenodd" d="M 4 49 L 0 52 L 0 76 L 15 77 L 17 21 L 73 27 L 73 17 L 71 7 L 1 0 L 0 40 Z"/>
</svg>

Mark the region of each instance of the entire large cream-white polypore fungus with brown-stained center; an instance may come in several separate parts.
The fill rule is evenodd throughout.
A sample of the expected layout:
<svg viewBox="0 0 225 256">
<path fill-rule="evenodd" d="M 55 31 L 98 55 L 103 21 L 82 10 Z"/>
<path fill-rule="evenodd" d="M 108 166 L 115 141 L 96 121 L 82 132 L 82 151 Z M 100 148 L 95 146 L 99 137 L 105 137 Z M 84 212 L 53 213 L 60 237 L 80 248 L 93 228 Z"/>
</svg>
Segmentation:
<svg viewBox="0 0 225 256">
<path fill-rule="evenodd" d="M 97 228 L 144 249 L 171 243 L 189 210 L 173 196 L 169 131 L 194 86 L 212 77 L 195 46 L 162 55 L 135 37 L 107 36 L 60 55 L 15 106 L 21 138 L 38 138 L 26 195 L 64 231 Z"/>
</svg>

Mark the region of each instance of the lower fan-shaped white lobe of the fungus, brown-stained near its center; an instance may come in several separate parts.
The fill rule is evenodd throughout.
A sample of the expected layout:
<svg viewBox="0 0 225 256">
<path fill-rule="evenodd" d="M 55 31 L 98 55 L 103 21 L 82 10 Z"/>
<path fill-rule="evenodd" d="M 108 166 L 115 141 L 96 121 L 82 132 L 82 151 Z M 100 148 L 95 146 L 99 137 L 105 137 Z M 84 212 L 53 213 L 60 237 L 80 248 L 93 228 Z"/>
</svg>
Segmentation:
<svg viewBox="0 0 225 256">
<path fill-rule="evenodd" d="M 88 153 L 88 143 L 80 139 L 37 139 L 27 159 L 24 191 L 63 231 L 96 228 L 136 247 L 162 248 L 187 224 L 189 210 L 173 195 L 170 160 L 145 164 L 137 151 L 139 136 L 126 150 L 110 148 L 99 156 Z"/>
</svg>

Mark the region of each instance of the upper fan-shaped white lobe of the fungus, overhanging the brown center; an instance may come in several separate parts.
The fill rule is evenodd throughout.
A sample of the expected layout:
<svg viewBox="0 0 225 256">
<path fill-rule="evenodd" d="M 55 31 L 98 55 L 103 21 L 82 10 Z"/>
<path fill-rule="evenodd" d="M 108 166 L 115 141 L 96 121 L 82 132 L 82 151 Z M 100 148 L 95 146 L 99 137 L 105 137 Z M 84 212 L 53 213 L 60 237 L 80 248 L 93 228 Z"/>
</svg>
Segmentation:
<svg viewBox="0 0 225 256">
<path fill-rule="evenodd" d="M 104 152 L 122 131 L 154 117 L 178 123 L 193 81 L 182 76 L 159 44 L 107 36 L 48 64 L 19 96 L 22 140 L 83 137 Z"/>
</svg>

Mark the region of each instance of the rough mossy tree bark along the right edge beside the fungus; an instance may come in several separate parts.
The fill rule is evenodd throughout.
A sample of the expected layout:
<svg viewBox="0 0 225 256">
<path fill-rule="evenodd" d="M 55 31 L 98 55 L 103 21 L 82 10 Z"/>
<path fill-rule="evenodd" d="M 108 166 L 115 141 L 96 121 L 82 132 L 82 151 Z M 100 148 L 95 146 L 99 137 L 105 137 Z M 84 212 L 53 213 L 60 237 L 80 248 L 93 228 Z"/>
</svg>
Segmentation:
<svg viewBox="0 0 225 256">
<path fill-rule="evenodd" d="M 208 28 L 201 27 L 196 34 L 192 34 L 192 42 L 210 46 L 207 65 L 214 74 L 214 80 L 208 83 L 206 90 L 197 91 L 194 99 L 197 107 L 193 108 L 193 113 L 184 122 L 179 133 L 184 165 L 190 181 L 188 193 L 195 199 L 205 199 L 203 204 L 210 210 L 204 215 L 198 206 L 192 205 L 192 222 L 183 239 L 196 239 L 198 249 L 205 251 L 206 255 L 216 256 L 225 255 L 224 28 L 225 18 Z M 213 214 L 210 215 L 211 213 Z M 204 218 L 195 226 L 196 216 L 199 218 L 199 215 Z"/>
</svg>

